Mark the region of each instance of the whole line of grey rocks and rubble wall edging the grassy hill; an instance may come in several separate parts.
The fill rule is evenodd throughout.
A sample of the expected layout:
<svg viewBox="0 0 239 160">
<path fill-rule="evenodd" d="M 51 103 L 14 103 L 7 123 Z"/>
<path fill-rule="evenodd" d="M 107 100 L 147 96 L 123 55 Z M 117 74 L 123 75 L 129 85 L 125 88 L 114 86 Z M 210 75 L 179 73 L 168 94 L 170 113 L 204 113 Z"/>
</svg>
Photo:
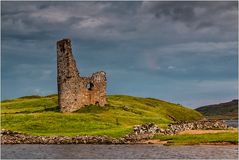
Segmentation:
<svg viewBox="0 0 239 160">
<path fill-rule="evenodd" d="M 33 136 L 25 133 L 1 130 L 1 144 L 135 144 L 149 140 L 155 134 L 173 135 L 180 131 L 195 129 L 227 129 L 222 120 L 201 120 L 194 122 L 175 123 L 161 129 L 154 123 L 136 125 L 133 132 L 122 137 L 109 136 Z"/>
</svg>

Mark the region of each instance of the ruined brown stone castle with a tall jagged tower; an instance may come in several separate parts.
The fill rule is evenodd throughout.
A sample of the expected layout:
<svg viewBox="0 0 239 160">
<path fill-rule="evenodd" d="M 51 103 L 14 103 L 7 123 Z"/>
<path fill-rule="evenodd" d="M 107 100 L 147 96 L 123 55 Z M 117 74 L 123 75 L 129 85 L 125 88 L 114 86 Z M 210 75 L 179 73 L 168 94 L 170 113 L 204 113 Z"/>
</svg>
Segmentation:
<svg viewBox="0 0 239 160">
<path fill-rule="evenodd" d="M 99 71 L 91 77 L 81 77 L 70 39 L 57 42 L 57 84 L 61 112 L 73 112 L 90 104 L 106 104 L 106 73 Z"/>
</svg>

